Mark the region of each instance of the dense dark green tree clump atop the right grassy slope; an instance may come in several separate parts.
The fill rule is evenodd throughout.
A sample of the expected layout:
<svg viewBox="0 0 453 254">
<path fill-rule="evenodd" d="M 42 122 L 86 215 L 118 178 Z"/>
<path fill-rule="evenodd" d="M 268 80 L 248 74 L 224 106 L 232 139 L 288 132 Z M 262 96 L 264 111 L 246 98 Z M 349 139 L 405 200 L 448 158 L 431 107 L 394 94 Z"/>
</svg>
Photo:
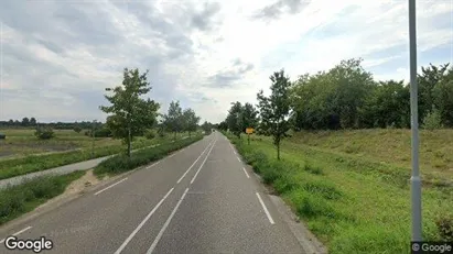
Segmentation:
<svg viewBox="0 0 453 254">
<path fill-rule="evenodd" d="M 439 109 L 453 126 L 453 67 L 423 67 L 418 77 L 420 122 Z M 374 81 L 362 59 L 342 60 L 327 71 L 302 75 L 291 89 L 295 130 L 410 128 L 410 90 L 403 81 Z"/>
</svg>

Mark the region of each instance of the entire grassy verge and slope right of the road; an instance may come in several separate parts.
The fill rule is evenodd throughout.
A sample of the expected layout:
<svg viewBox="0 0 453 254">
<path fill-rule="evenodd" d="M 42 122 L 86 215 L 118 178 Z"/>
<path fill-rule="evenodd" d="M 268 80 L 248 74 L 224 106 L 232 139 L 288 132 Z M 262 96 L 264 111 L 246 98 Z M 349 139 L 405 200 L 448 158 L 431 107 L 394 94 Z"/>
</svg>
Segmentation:
<svg viewBox="0 0 453 254">
<path fill-rule="evenodd" d="M 453 240 L 452 135 L 420 133 L 425 240 Z M 408 130 L 294 133 L 281 162 L 269 137 L 231 139 L 330 253 L 410 252 Z"/>
</svg>

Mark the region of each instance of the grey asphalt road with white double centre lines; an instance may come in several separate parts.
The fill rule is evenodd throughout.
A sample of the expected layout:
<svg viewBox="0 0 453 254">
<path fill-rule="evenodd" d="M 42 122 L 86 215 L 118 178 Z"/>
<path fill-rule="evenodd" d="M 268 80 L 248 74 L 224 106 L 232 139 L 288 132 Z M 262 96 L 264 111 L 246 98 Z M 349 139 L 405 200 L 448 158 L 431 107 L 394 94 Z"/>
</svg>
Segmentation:
<svg viewBox="0 0 453 254">
<path fill-rule="evenodd" d="M 65 254 L 304 253 L 244 166 L 215 132 L 0 239 L 45 236 L 54 247 L 43 253 Z M 24 252 L 2 243 L 0 253 Z"/>
</svg>

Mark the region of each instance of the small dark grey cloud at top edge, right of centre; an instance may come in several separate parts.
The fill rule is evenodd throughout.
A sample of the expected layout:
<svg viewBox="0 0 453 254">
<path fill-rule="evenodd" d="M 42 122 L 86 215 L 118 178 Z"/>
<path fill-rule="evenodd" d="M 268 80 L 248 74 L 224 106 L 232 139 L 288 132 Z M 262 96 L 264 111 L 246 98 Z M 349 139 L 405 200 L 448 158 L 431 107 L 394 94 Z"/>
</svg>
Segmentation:
<svg viewBox="0 0 453 254">
<path fill-rule="evenodd" d="M 261 8 L 252 18 L 267 21 L 278 20 L 285 13 L 296 14 L 301 12 L 308 4 L 309 2 L 304 0 L 278 0 Z"/>
</svg>

